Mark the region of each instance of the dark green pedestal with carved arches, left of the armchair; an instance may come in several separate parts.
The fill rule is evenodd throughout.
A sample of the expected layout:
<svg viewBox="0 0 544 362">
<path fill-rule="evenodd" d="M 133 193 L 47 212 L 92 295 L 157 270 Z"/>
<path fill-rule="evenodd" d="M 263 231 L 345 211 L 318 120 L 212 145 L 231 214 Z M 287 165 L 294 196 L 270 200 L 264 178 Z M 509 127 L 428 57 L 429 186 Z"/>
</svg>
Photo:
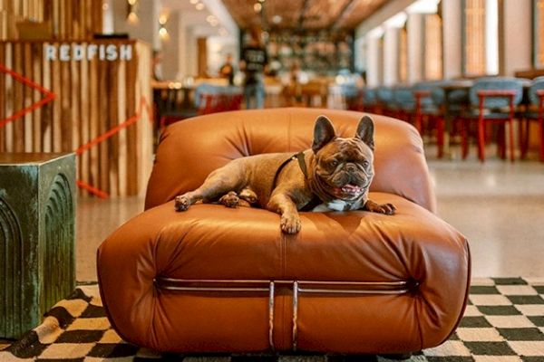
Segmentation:
<svg viewBox="0 0 544 362">
<path fill-rule="evenodd" d="M 0 154 L 0 337 L 75 287 L 74 154 Z"/>
</svg>

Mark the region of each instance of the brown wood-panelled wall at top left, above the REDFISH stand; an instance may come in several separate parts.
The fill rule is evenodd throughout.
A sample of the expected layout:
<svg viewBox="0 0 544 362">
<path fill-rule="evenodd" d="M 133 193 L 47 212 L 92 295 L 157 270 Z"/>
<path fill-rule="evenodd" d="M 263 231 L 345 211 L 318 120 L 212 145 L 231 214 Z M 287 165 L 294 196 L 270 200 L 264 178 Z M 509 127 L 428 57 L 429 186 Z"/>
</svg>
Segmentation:
<svg viewBox="0 0 544 362">
<path fill-rule="evenodd" d="M 102 0 L 0 0 L 0 40 L 18 39 L 27 20 L 49 24 L 58 40 L 91 39 L 102 33 Z"/>
</svg>

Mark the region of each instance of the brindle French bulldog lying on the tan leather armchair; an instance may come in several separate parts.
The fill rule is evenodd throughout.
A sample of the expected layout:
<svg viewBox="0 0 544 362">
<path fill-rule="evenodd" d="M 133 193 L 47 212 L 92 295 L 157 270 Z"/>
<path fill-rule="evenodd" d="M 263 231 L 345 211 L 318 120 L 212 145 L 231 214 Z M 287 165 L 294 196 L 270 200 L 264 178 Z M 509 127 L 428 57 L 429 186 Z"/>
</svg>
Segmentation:
<svg viewBox="0 0 544 362">
<path fill-rule="evenodd" d="M 234 159 L 209 174 L 196 190 L 176 196 L 175 209 L 185 211 L 198 201 L 219 198 L 230 207 L 259 205 L 281 215 L 284 233 L 300 231 L 298 211 L 308 206 L 314 211 L 361 209 L 394 214 L 393 205 L 368 199 L 373 161 L 374 122 L 370 117 L 359 121 L 355 137 L 340 138 L 331 121 L 319 116 L 311 149 L 296 156 L 273 153 Z"/>
</svg>

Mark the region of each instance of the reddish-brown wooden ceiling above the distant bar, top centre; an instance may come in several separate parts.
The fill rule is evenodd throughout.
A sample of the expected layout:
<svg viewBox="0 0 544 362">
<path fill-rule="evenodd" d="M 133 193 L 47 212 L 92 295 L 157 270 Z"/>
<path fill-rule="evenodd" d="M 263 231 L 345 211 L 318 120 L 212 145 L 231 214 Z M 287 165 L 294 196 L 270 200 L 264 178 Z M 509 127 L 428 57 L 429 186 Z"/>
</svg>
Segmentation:
<svg viewBox="0 0 544 362">
<path fill-rule="evenodd" d="M 355 29 L 387 0 L 222 0 L 238 26 L 248 29 Z M 254 8 L 261 4 L 262 10 Z M 258 6 L 258 5 L 257 5 Z"/>
</svg>

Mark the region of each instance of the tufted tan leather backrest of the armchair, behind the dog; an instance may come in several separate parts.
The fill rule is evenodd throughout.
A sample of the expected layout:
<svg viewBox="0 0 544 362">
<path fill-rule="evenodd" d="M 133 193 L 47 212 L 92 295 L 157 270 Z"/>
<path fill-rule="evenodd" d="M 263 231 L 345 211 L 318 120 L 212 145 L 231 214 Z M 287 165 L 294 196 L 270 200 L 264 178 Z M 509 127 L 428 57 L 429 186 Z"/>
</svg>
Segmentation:
<svg viewBox="0 0 544 362">
<path fill-rule="evenodd" d="M 363 116 L 347 110 L 238 110 L 170 125 L 160 137 L 145 208 L 194 190 L 231 159 L 310 148 L 316 118 L 322 114 L 332 120 L 341 137 L 353 137 Z M 432 183 L 417 130 L 401 120 L 371 117 L 375 143 L 371 191 L 401 195 L 434 212 Z"/>
</svg>

